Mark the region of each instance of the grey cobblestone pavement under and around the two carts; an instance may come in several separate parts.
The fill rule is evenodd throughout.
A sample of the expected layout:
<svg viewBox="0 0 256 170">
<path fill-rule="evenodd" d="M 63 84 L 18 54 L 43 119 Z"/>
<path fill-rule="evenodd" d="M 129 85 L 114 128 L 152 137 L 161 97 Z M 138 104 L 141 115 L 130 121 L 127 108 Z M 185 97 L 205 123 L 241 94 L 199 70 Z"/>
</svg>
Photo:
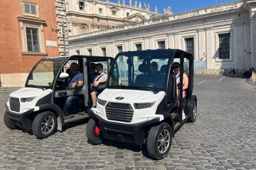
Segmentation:
<svg viewBox="0 0 256 170">
<path fill-rule="evenodd" d="M 0 169 L 256 169 L 254 86 L 242 78 L 196 75 L 199 116 L 173 139 L 170 154 L 148 158 L 145 147 L 108 141 L 88 144 L 86 124 L 71 124 L 47 139 L 3 123 L 0 92 Z"/>
</svg>

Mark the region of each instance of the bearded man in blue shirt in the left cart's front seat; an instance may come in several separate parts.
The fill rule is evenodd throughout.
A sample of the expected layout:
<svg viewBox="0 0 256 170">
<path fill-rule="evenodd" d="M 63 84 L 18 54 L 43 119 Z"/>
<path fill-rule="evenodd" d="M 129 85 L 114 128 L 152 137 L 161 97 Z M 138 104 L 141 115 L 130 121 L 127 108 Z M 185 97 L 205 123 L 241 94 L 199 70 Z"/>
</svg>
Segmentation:
<svg viewBox="0 0 256 170">
<path fill-rule="evenodd" d="M 73 62 L 70 66 L 71 75 L 68 77 L 68 88 L 81 88 L 84 84 L 84 79 L 82 73 L 79 72 L 79 66 L 77 63 Z M 80 97 L 78 96 L 69 96 L 66 100 L 65 106 L 63 108 L 63 117 L 64 120 L 71 118 L 73 115 L 68 114 L 72 105 L 79 103 Z"/>
</svg>

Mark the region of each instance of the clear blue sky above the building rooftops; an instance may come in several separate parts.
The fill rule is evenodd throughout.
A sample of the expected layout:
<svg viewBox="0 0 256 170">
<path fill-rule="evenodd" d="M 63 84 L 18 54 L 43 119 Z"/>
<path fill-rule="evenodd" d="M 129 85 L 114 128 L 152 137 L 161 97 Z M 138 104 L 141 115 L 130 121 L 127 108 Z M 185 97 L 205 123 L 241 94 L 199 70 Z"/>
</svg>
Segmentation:
<svg viewBox="0 0 256 170">
<path fill-rule="evenodd" d="M 118 0 L 109 0 L 110 2 L 118 2 Z M 122 3 L 122 0 L 120 0 Z M 133 5 L 134 5 L 134 0 Z M 139 3 L 139 0 L 137 0 Z M 185 12 L 189 10 L 196 10 L 202 7 L 208 7 L 216 5 L 216 0 L 141 0 L 142 7 L 144 7 L 144 2 L 150 4 L 150 10 L 155 11 L 155 6 L 158 6 L 158 12 L 163 13 L 163 8 L 171 7 L 174 14 Z M 234 0 L 217 0 L 217 5 L 220 3 L 234 2 Z M 129 0 L 125 0 L 128 5 Z M 137 4 L 138 4 L 137 3 Z M 137 5 L 138 6 L 138 5 Z"/>
</svg>

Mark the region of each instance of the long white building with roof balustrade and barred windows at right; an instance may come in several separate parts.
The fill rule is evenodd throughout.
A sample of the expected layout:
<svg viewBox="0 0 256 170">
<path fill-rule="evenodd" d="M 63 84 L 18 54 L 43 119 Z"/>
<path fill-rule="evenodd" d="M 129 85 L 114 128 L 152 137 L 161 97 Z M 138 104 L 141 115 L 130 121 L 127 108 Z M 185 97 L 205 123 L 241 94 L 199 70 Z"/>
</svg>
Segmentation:
<svg viewBox="0 0 256 170">
<path fill-rule="evenodd" d="M 245 0 L 127 23 L 69 37 L 71 54 L 115 56 L 120 51 L 187 50 L 207 69 L 256 66 L 256 1 Z"/>
</svg>

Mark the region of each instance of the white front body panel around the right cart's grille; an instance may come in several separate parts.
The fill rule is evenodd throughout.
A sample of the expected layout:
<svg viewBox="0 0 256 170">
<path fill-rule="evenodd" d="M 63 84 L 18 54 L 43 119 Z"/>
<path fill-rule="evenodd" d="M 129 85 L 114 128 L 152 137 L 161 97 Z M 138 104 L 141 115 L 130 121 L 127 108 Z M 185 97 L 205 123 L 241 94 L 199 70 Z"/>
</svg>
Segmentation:
<svg viewBox="0 0 256 170">
<path fill-rule="evenodd" d="M 163 100 L 165 92 L 160 91 L 158 94 L 154 94 L 152 91 L 142 90 L 119 90 L 119 89 L 105 89 L 99 96 L 98 99 L 105 100 L 112 103 L 125 103 L 131 104 L 134 109 L 133 119 L 131 122 L 120 122 L 108 120 L 106 118 L 105 106 L 97 103 L 97 108 L 93 108 L 94 113 L 109 122 L 119 122 L 122 124 L 137 124 L 140 122 L 148 121 L 153 118 L 159 117 L 160 121 L 163 120 L 163 115 L 155 114 L 159 103 Z M 115 97 L 124 97 L 123 100 L 117 100 Z M 154 105 L 146 109 L 135 109 L 134 103 L 152 103 Z"/>
</svg>

